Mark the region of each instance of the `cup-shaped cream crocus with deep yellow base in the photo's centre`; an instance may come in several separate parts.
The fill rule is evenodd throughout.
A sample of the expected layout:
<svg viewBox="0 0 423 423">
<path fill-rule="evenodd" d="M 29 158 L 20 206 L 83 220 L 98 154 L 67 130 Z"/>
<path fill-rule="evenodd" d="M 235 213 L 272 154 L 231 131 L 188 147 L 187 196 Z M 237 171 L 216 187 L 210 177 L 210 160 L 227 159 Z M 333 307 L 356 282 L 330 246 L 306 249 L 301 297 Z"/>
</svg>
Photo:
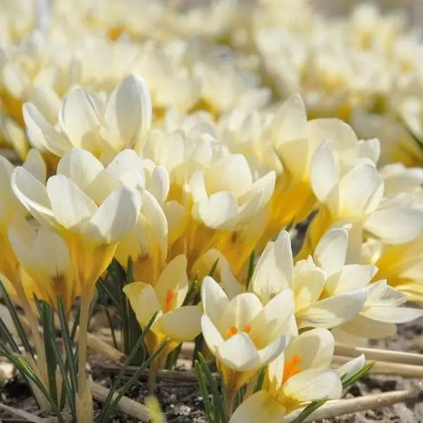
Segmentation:
<svg viewBox="0 0 423 423">
<path fill-rule="evenodd" d="M 194 171 L 188 180 L 193 202 L 187 234 L 190 259 L 197 259 L 213 246 L 238 274 L 262 235 L 264 206 L 274 182 L 273 171 L 253 180 L 242 154 L 223 156 L 207 168 Z"/>
</svg>

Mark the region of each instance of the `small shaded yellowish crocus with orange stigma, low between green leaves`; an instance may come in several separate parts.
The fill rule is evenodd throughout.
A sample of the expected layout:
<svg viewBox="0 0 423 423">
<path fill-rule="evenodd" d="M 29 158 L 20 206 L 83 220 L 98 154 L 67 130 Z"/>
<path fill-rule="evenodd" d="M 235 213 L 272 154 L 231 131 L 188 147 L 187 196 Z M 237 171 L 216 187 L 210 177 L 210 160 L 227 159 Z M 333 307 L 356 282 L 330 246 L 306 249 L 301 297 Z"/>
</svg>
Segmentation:
<svg viewBox="0 0 423 423">
<path fill-rule="evenodd" d="M 160 344 L 168 339 L 161 357 L 184 341 L 192 341 L 201 331 L 201 309 L 194 305 L 184 305 L 188 293 L 187 259 L 183 255 L 175 257 L 164 268 L 159 280 L 153 286 L 134 282 L 123 288 L 137 320 L 142 327 L 158 313 L 146 343 L 149 353 L 154 353 Z"/>
</svg>

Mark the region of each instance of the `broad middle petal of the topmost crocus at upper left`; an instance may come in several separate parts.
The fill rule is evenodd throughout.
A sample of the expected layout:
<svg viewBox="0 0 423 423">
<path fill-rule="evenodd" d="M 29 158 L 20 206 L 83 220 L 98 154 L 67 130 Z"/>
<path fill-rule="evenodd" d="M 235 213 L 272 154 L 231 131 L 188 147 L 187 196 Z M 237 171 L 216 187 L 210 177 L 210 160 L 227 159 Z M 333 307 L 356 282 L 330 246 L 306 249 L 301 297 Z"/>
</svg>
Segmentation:
<svg viewBox="0 0 423 423">
<path fill-rule="evenodd" d="M 91 149 L 96 137 L 94 131 L 100 124 L 99 114 L 94 94 L 78 87 L 63 100 L 59 123 L 75 147 Z"/>
</svg>

